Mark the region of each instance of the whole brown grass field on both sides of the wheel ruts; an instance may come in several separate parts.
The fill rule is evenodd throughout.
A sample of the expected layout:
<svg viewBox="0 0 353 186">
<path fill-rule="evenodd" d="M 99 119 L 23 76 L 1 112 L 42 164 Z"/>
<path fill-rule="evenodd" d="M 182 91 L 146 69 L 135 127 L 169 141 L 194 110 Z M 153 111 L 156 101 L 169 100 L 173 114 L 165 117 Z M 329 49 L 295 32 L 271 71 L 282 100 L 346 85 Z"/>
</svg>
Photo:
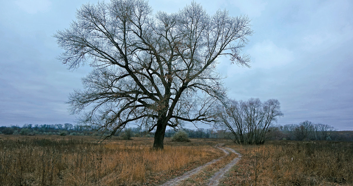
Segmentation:
<svg viewBox="0 0 353 186">
<path fill-rule="evenodd" d="M 153 138 L 112 138 L 102 143 L 91 136 L 0 135 L 0 185 L 160 185 L 224 153 L 225 143 L 243 157 L 222 186 L 353 185 L 353 143 L 273 141 L 236 145 L 231 141 L 192 138 L 164 140 L 164 150 L 152 150 Z M 205 185 L 229 155 L 182 185 Z"/>
</svg>

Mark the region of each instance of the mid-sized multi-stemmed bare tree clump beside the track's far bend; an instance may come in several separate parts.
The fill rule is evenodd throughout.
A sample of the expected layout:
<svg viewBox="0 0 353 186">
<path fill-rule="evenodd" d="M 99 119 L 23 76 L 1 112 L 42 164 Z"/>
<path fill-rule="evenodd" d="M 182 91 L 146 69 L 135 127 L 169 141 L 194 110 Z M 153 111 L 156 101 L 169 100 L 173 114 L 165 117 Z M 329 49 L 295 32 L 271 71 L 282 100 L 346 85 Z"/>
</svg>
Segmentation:
<svg viewBox="0 0 353 186">
<path fill-rule="evenodd" d="M 229 137 L 236 143 L 263 144 L 280 116 L 283 113 L 277 99 L 263 103 L 258 98 L 229 100 L 220 113 L 219 125 L 231 132 Z"/>
</svg>

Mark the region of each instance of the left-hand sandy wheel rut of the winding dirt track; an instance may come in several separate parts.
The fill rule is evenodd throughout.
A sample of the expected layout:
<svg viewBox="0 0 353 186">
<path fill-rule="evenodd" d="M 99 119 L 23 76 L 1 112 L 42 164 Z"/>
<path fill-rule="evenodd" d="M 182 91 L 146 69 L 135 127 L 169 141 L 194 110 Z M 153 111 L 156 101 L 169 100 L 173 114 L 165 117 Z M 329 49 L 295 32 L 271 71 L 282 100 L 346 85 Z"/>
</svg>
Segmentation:
<svg viewBox="0 0 353 186">
<path fill-rule="evenodd" d="M 185 179 L 188 179 L 188 178 L 190 178 L 190 176 L 192 176 L 192 175 L 198 173 L 202 168 L 204 168 L 204 167 L 206 167 L 206 166 L 208 166 L 208 165 L 210 165 L 210 164 L 212 164 L 212 163 L 215 163 L 215 162 L 217 162 L 217 161 L 222 160 L 223 158 L 225 158 L 225 157 L 229 154 L 229 152 L 228 152 L 227 150 L 225 150 L 225 149 L 219 147 L 219 146 L 222 146 L 222 145 L 224 145 L 224 144 L 223 144 L 223 143 L 219 143 L 219 144 L 216 144 L 215 147 L 217 147 L 217 148 L 223 150 L 223 152 L 224 152 L 226 155 L 220 157 L 219 159 L 212 160 L 212 161 L 210 161 L 210 162 L 208 162 L 208 163 L 206 163 L 206 164 L 204 164 L 204 165 L 202 165 L 202 166 L 199 166 L 199 167 L 197 167 L 197 168 L 194 168 L 194 169 L 192 169 L 191 171 L 188 171 L 188 172 L 184 173 L 183 175 L 178 176 L 177 178 L 171 179 L 171 180 L 165 182 L 164 184 L 162 184 L 162 185 L 160 185 L 160 186 L 175 186 L 175 185 L 178 185 L 181 181 L 183 181 L 183 180 L 185 180 Z M 232 150 L 233 150 L 233 149 L 232 149 Z M 234 150 L 233 150 L 233 151 L 234 151 Z"/>
</svg>

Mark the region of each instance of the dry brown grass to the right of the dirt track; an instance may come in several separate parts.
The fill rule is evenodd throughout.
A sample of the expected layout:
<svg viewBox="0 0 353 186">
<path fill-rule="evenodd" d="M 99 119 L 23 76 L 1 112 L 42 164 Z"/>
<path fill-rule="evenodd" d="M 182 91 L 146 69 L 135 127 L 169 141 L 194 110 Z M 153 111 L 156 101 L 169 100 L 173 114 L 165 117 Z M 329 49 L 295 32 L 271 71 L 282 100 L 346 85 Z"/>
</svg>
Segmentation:
<svg viewBox="0 0 353 186">
<path fill-rule="evenodd" d="M 286 141 L 229 146 L 240 149 L 243 158 L 223 185 L 353 185 L 353 143 Z"/>
</svg>

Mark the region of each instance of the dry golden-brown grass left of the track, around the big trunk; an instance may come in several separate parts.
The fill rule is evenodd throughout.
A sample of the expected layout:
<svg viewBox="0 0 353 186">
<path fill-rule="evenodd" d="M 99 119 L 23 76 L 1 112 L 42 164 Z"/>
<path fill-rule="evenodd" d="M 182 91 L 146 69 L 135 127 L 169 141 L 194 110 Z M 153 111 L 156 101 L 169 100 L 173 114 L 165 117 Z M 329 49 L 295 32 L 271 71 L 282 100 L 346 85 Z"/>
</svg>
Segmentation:
<svg viewBox="0 0 353 186">
<path fill-rule="evenodd" d="M 223 155 L 207 140 L 167 139 L 164 150 L 152 150 L 152 138 L 100 144 L 94 138 L 6 138 L 0 140 L 0 185 L 155 185 Z"/>
</svg>

